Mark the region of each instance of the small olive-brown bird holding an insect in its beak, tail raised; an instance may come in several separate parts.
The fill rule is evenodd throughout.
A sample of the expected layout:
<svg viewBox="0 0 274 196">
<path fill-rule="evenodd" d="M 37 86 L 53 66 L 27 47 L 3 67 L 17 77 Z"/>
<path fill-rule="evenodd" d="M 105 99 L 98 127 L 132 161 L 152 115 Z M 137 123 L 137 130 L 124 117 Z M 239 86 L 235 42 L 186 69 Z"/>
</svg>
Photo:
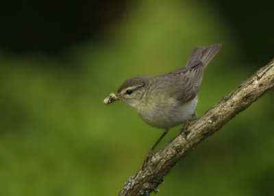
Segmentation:
<svg viewBox="0 0 274 196">
<path fill-rule="evenodd" d="M 149 150 L 147 159 L 171 127 L 184 123 L 181 133 L 187 134 L 189 121 L 197 119 L 197 93 L 203 71 L 221 44 L 193 49 L 184 68 L 158 76 L 138 75 L 126 79 L 117 90 L 104 99 L 105 104 L 124 101 L 135 108 L 141 119 L 164 133 Z"/>
</svg>

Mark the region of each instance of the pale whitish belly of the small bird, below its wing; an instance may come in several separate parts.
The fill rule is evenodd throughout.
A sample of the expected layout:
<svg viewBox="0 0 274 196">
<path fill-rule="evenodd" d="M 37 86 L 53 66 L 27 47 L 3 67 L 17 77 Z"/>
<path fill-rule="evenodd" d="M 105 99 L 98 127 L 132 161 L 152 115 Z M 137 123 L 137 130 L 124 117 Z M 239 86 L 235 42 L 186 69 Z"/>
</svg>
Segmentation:
<svg viewBox="0 0 274 196">
<path fill-rule="evenodd" d="M 197 97 L 188 103 L 178 104 L 173 101 L 168 105 L 168 107 L 154 106 L 138 112 L 142 120 L 153 127 L 163 129 L 175 127 L 195 112 Z"/>
</svg>

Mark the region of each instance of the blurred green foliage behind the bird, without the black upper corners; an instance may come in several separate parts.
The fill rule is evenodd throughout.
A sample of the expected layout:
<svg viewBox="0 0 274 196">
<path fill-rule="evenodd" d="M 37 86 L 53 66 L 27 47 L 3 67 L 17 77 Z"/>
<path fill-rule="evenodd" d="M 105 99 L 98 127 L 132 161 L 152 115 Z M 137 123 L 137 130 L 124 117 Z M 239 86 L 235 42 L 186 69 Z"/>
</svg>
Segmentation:
<svg viewBox="0 0 274 196">
<path fill-rule="evenodd" d="M 223 48 L 203 77 L 201 116 L 270 60 L 242 58 L 237 35 L 210 4 L 129 3 L 101 38 L 66 47 L 65 61 L 2 49 L 0 195 L 116 195 L 162 130 L 127 104 L 103 99 L 128 77 L 179 69 L 194 47 L 212 43 Z M 199 144 L 158 195 L 273 195 L 273 95 Z"/>
</svg>

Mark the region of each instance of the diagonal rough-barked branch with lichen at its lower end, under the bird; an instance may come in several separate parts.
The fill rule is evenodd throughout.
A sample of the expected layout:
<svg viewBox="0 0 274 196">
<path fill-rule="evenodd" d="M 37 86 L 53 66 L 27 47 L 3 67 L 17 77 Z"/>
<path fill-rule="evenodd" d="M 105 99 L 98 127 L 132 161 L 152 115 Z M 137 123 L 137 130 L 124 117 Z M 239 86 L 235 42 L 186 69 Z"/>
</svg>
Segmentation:
<svg viewBox="0 0 274 196">
<path fill-rule="evenodd" d="M 186 139 L 179 134 L 168 145 L 157 151 L 144 168 L 141 167 L 127 180 L 119 195 L 149 195 L 153 191 L 158 192 L 158 185 L 163 182 L 164 176 L 181 158 L 195 145 L 220 130 L 236 114 L 249 107 L 273 85 L 274 60 L 259 69 L 246 82 L 223 97 L 216 106 L 192 123 L 188 127 L 190 133 Z"/>
</svg>

